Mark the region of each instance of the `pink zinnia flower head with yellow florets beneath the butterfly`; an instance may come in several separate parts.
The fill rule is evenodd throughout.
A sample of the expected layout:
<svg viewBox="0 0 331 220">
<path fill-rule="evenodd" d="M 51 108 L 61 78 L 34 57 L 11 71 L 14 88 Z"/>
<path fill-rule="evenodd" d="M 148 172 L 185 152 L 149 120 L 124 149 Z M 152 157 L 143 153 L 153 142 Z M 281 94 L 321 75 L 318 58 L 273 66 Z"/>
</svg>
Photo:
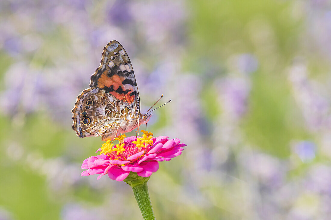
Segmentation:
<svg viewBox="0 0 331 220">
<path fill-rule="evenodd" d="M 118 136 L 115 140 L 119 144 L 107 141 L 100 149 L 100 155 L 84 160 L 81 168 L 88 169 L 81 173 L 82 176 L 92 174 L 102 175 L 108 173 L 112 180 L 123 181 L 130 172 L 138 176 L 149 177 L 159 169 L 159 161 L 169 161 L 181 154 L 183 143 L 179 139 L 168 140 L 167 136 L 153 137 L 150 132 L 145 132 L 143 137 L 125 138 Z"/>
</svg>

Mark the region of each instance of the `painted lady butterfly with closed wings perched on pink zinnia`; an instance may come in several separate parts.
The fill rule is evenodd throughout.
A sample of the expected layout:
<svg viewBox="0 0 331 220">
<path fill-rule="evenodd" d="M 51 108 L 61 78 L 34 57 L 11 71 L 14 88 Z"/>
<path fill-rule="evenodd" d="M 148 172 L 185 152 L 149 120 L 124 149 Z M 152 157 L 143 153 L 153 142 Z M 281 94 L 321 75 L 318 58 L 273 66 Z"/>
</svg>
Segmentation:
<svg viewBox="0 0 331 220">
<path fill-rule="evenodd" d="M 146 124 L 152 116 L 140 113 L 132 65 L 117 41 L 104 47 L 100 66 L 91 76 L 89 86 L 77 97 L 71 111 L 72 129 L 80 138 L 101 136 L 102 141 L 114 140 Z"/>
</svg>

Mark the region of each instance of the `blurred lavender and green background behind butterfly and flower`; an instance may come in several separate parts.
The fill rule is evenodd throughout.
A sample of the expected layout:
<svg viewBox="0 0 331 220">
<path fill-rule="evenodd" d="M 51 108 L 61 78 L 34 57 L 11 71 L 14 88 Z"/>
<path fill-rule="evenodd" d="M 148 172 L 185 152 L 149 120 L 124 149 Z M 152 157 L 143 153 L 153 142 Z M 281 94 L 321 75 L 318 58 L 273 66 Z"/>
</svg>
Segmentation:
<svg viewBox="0 0 331 220">
<path fill-rule="evenodd" d="M 330 218 L 330 1 L 3 0 L 1 220 L 142 219 L 127 184 L 80 176 L 102 141 L 71 129 L 111 40 L 142 112 L 172 99 L 149 130 L 188 145 L 150 178 L 157 219 Z"/>
</svg>

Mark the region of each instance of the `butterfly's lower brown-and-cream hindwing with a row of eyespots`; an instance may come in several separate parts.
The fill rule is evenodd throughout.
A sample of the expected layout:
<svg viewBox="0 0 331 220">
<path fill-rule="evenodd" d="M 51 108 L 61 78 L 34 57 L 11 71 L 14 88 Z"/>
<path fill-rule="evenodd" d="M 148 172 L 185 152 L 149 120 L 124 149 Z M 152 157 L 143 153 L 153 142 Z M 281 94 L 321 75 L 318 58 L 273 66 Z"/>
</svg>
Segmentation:
<svg viewBox="0 0 331 220">
<path fill-rule="evenodd" d="M 78 137 L 115 136 L 116 129 L 132 112 L 127 105 L 107 91 L 91 87 L 82 91 L 72 109 L 73 125 Z"/>
</svg>

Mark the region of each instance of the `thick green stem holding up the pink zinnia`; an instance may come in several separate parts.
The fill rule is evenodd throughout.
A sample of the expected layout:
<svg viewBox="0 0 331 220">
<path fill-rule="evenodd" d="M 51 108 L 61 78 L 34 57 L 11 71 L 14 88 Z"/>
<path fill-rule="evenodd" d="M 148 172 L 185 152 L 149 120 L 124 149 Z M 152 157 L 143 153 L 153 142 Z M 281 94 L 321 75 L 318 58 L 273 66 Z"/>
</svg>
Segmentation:
<svg viewBox="0 0 331 220">
<path fill-rule="evenodd" d="M 147 181 L 149 177 L 138 176 L 137 173 L 132 173 L 124 179 L 124 182 L 132 187 L 134 197 L 136 197 L 138 206 L 144 220 L 155 220 L 151 199 L 148 194 Z"/>
</svg>

